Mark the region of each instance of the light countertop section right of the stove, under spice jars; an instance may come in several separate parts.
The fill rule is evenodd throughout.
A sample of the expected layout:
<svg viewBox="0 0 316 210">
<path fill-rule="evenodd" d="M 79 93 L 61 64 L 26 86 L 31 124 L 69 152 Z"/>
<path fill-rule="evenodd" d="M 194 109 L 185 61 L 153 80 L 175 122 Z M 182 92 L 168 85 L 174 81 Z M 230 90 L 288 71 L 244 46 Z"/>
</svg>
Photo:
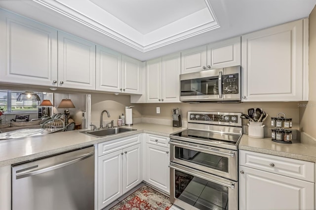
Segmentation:
<svg viewBox="0 0 316 210">
<path fill-rule="evenodd" d="M 274 142 L 271 138 L 255 139 L 243 134 L 238 149 L 316 163 L 316 142 L 314 140 L 304 143 L 299 140 L 292 140 L 291 144 L 285 144 Z"/>
</svg>

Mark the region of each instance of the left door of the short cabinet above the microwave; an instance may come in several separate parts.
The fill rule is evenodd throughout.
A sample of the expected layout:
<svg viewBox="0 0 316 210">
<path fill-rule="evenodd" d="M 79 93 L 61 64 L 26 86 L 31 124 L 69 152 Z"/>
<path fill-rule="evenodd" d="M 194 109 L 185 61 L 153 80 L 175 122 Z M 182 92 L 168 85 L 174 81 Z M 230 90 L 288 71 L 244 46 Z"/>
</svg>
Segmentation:
<svg viewBox="0 0 316 210">
<path fill-rule="evenodd" d="M 181 74 L 206 70 L 207 46 L 181 52 Z"/>
</svg>

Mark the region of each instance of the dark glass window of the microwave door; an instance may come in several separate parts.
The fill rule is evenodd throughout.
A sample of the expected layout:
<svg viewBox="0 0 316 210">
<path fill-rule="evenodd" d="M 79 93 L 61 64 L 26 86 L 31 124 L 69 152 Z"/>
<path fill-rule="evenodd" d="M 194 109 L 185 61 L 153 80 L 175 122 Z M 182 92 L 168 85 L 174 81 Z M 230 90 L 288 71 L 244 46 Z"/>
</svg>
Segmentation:
<svg viewBox="0 0 316 210">
<path fill-rule="evenodd" d="M 218 76 L 180 81 L 181 96 L 218 95 Z"/>
</svg>

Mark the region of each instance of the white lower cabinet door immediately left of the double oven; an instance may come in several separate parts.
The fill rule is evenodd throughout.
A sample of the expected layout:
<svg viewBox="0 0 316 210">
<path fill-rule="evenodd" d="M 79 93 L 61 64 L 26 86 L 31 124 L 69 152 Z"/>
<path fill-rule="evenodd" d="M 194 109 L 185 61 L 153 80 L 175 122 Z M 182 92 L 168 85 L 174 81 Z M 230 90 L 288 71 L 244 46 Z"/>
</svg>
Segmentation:
<svg viewBox="0 0 316 210">
<path fill-rule="evenodd" d="M 146 181 L 170 192 L 169 148 L 146 143 Z"/>
</svg>

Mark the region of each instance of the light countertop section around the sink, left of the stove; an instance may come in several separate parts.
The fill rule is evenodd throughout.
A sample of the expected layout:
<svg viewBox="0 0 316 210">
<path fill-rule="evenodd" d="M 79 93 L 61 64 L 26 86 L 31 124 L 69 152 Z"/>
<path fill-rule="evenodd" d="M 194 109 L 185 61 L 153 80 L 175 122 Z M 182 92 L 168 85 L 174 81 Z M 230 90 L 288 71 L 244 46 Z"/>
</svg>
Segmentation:
<svg viewBox="0 0 316 210">
<path fill-rule="evenodd" d="M 87 130 L 81 129 L 20 139 L 0 140 L 0 167 L 143 132 L 169 137 L 174 132 L 186 129 L 185 127 L 174 128 L 172 126 L 150 123 L 139 123 L 124 127 L 137 130 L 99 138 L 80 133 L 80 131 Z"/>
</svg>

